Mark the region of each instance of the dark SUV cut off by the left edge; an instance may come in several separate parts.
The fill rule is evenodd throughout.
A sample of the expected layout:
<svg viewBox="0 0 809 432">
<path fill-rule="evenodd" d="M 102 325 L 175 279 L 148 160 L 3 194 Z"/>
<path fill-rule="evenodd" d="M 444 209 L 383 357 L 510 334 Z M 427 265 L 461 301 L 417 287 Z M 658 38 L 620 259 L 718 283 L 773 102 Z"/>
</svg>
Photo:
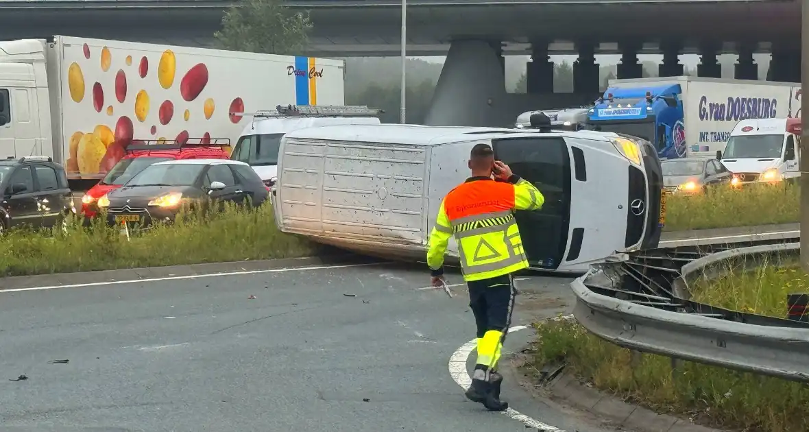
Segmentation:
<svg viewBox="0 0 809 432">
<path fill-rule="evenodd" d="M 0 159 L 0 233 L 50 228 L 75 213 L 65 168 L 45 156 Z"/>
</svg>

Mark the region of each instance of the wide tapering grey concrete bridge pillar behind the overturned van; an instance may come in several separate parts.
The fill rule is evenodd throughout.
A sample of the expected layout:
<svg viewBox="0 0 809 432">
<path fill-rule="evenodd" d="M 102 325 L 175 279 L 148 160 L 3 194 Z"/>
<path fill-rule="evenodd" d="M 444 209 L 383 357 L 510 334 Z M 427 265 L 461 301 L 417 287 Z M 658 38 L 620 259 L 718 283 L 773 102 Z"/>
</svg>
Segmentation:
<svg viewBox="0 0 809 432">
<path fill-rule="evenodd" d="M 425 125 L 502 127 L 514 123 L 516 114 L 507 109 L 499 48 L 488 40 L 452 41 Z"/>
</svg>

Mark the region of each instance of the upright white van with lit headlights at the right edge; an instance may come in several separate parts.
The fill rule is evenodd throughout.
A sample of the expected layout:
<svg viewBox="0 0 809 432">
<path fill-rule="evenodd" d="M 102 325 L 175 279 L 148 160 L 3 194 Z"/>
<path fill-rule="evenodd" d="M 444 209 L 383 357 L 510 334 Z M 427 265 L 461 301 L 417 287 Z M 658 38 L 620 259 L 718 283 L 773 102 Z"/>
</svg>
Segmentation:
<svg viewBox="0 0 809 432">
<path fill-rule="evenodd" d="M 801 175 L 801 119 L 743 120 L 736 124 L 725 151 L 717 151 L 741 183 L 794 181 Z"/>
</svg>

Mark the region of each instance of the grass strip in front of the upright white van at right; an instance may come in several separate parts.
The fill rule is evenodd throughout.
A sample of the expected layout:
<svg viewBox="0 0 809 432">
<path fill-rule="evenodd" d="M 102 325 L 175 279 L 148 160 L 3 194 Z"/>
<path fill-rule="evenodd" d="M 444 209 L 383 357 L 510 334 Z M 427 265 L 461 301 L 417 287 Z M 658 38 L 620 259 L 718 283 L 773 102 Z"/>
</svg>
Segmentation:
<svg viewBox="0 0 809 432">
<path fill-rule="evenodd" d="M 800 187 L 795 184 L 751 184 L 741 189 L 714 188 L 667 200 L 665 231 L 753 227 L 798 222 Z"/>
</svg>

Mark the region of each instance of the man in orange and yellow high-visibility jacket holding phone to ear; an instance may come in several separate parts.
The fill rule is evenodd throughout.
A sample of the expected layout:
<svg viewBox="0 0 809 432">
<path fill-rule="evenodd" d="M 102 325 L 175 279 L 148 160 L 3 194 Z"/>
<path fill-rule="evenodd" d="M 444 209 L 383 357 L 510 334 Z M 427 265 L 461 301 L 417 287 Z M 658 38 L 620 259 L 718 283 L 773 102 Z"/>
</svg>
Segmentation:
<svg viewBox="0 0 809 432">
<path fill-rule="evenodd" d="M 516 294 L 511 273 L 528 267 L 514 211 L 539 210 L 544 197 L 508 165 L 495 161 L 488 144 L 472 148 L 469 169 L 472 177 L 447 193 L 438 208 L 427 265 L 433 286 L 446 283 L 444 254 L 455 235 L 477 324 L 477 364 L 466 396 L 487 409 L 502 411 L 508 404 L 500 400 L 502 375 L 497 366 Z"/>
</svg>

